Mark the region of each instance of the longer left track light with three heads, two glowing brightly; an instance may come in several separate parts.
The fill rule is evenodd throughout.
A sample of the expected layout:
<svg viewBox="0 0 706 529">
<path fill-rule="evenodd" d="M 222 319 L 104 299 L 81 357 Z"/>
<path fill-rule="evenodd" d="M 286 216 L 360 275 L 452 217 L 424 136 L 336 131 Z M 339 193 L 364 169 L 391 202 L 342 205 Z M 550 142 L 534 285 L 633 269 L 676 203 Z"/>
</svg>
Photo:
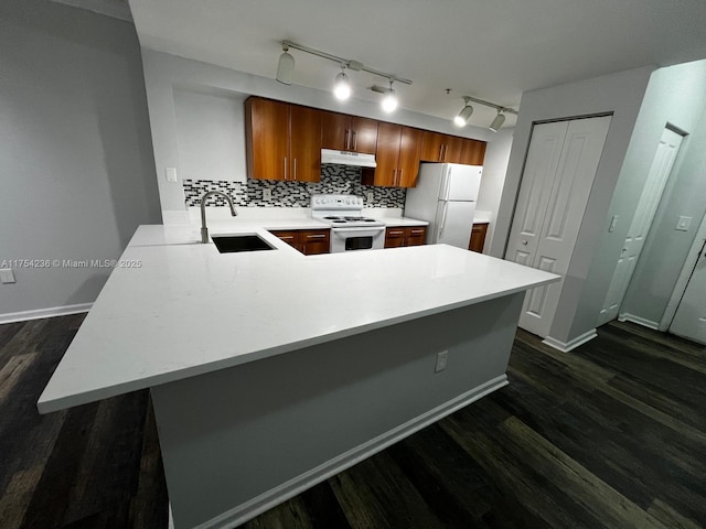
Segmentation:
<svg viewBox="0 0 706 529">
<path fill-rule="evenodd" d="M 347 99 L 351 96 L 351 82 L 349 79 L 349 76 L 345 74 L 346 68 L 352 72 L 367 72 L 368 74 L 387 77 L 389 79 L 389 88 L 382 88 L 381 90 L 375 90 L 375 87 L 372 88 L 374 91 L 382 91 L 383 94 L 385 94 L 385 98 L 383 99 L 383 108 L 388 112 L 392 112 L 397 107 L 397 97 L 395 96 L 395 90 L 393 89 L 393 83 L 397 82 L 404 83 L 405 85 L 411 85 L 411 80 L 409 79 L 397 77 L 396 75 L 388 74 L 386 72 L 370 68 L 359 61 L 336 57 L 335 55 L 331 55 L 330 53 L 302 46 L 301 44 L 297 44 L 291 41 L 282 41 L 282 54 L 279 56 L 276 79 L 280 83 L 284 83 L 285 85 L 291 85 L 291 79 L 295 74 L 295 57 L 292 57 L 288 53 L 290 47 L 293 50 L 299 50 L 300 52 L 315 55 L 318 57 L 327 58 L 341 65 L 342 72 L 335 76 L 333 93 L 335 97 L 342 100 Z"/>
</svg>

